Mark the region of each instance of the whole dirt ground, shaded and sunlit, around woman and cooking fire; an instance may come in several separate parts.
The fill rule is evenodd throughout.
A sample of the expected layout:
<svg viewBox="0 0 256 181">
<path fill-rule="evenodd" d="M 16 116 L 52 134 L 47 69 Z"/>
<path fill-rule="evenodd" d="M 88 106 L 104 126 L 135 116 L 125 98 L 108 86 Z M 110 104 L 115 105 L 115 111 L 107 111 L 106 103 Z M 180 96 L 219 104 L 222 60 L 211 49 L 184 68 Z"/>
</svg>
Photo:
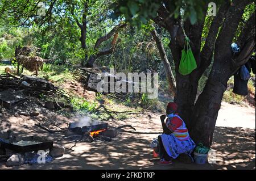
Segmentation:
<svg viewBox="0 0 256 181">
<path fill-rule="evenodd" d="M 0 119 L 0 130 L 16 129 L 24 135 L 47 136 L 55 140 L 58 134 L 48 134 L 34 127 L 35 123 L 46 125 L 43 117 L 54 119 L 61 127 L 73 120 L 54 113 L 31 119 L 9 115 Z M 158 114 L 144 114 L 133 119 L 108 121 L 109 127 L 131 124 L 137 129 L 123 128 L 112 142 L 96 140 L 81 142 L 74 151 L 66 150 L 63 157 L 51 163 L 22 165 L 8 168 L 5 162 L 0 169 L 255 169 L 255 109 L 223 103 L 216 123 L 212 149 L 216 150 L 216 163 L 196 165 L 175 161 L 170 166 L 159 166 L 152 157 L 149 144 L 162 131 Z M 48 126 L 48 125 L 47 125 Z M 71 148 L 73 144 L 65 147 Z"/>
</svg>

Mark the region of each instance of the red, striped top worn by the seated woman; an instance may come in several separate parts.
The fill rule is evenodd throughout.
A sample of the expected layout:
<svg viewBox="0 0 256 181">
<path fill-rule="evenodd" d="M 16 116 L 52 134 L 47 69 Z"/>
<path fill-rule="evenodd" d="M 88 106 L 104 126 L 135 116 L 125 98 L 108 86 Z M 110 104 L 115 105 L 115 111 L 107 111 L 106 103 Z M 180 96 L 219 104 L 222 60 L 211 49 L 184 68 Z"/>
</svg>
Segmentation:
<svg viewBox="0 0 256 181">
<path fill-rule="evenodd" d="M 168 118 L 166 126 L 173 132 L 172 134 L 174 134 L 178 140 L 184 141 L 189 139 L 188 129 L 179 115 Z"/>
</svg>

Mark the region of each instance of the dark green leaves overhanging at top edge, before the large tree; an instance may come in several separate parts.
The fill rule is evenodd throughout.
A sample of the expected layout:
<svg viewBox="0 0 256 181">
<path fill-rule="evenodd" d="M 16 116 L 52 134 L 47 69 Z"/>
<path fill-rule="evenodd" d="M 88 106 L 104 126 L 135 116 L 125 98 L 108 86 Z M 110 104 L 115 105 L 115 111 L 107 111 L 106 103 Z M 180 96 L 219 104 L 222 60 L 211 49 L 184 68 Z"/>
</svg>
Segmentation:
<svg viewBox="0 0 256 181">
<path fill-rule="evenodd" d="M 204 19 L 204 8 L 209 2 L 220 4 L 223 1 L 177 0 L 166 2 L 165 7 L 170 13 L 170 18 L 172 16 L 175 19 L 178 18 L 180 9 L 183 9 L 184 19 L 189 19 L 192 24 L 195 24 L 197 20 Z M 163 2 L 157 0 L 118 0 L 112 5 L 114 9 L 112 18 L 117 19 L 123 15 L 127 22 L 141 28 L 142 23 L 146 24 L 148 20 L 154 19 L 158 15 L 160 6 L 163 6 Z"/>
</svg>

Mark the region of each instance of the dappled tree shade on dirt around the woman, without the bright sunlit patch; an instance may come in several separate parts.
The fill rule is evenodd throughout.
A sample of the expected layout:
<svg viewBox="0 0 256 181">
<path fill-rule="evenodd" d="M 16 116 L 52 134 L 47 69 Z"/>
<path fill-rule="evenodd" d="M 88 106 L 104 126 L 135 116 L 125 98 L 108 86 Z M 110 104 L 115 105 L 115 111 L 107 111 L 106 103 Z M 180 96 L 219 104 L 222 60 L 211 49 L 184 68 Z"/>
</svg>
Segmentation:
<svg viewBox="0 0 256 181">
<path fill-rule="evenodd" d="M 50 126 L 43 120 L 29 121 Z M 67 125 L 63 117 L 55 117 L 55 122 L 63 123 L 63 127 Z M 16 123 L 1 121 L 0 130 L 16 127 L 20 135 L 29 133 L 46 136 L 55 141 L 60 137 L 59 134 L 42 131 L 34 127 L 34 124 L 29 123 L 24 127 L 20 126 L 20 123 L 22 123 L 21 119 L 16 120 Z M 7 168 L 5 162 L 1 162 L 0 169 L 255 169 L 255 129 L 216 127 L 212 146 L 217 151 L 214 164 L 184 164 L 176 160 L 171 166 L 159 166 L 156 164 L 158 159 L 152 157 L 152 149 L 149 145 L 152 139 L 158 136 L 151 132 L 161 130 L 155 129 L 153 121 L 148 121 L 147 125 L 140 124 L 137 128 L 141 133 L 119 132 L 111 142 L 101 141 L 98 138 L 92 143 L 80 142 L 73 148 L 74 151 L 66 150 L 63 157 L 56 158 L 50 163 Z M 67 148 L 72 146 L 73 143 L 65 144 Z"/>
</svg>

